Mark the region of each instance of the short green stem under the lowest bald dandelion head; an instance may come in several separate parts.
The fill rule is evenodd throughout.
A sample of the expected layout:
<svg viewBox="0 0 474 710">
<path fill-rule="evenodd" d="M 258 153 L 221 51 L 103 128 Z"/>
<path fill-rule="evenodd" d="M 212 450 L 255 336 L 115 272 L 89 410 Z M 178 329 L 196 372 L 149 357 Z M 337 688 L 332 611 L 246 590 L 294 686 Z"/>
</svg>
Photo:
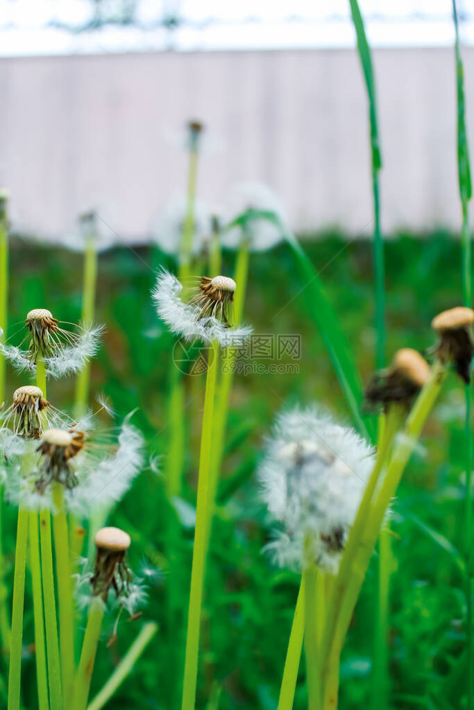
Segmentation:
<svg viewBox="0 0 474 710">
<path fill-rule="evenodd" d="M 94 597 L 90 603 L 87 614 L 87 626 L 85 628 L 84 641 L 80 654 L 79 667 L 74 684 L 74 710 L 85 710 L 87 698 L 89 697 L 90 681 L 94 670 L 97 645 L 104 618 L 104 602 L 99 597 Z"/>
</svg>

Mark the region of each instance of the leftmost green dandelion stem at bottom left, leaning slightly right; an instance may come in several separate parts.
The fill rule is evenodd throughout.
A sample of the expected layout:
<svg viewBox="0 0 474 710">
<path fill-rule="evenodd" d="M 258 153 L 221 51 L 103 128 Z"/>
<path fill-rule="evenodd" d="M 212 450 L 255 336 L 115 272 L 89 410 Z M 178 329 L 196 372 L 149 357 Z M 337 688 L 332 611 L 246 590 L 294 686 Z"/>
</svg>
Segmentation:
<svg viewBox="0 0 474 710">
<path fill-rule="evenodd" d="M 8 710 L 20 709 L 21 648 L 23 644 L 23 602 L 25 599 L 26 543 L 28 541 L 28 511 L 18 510 L 15 547 L 13 608 L 9 665 Z"/>
</svg>

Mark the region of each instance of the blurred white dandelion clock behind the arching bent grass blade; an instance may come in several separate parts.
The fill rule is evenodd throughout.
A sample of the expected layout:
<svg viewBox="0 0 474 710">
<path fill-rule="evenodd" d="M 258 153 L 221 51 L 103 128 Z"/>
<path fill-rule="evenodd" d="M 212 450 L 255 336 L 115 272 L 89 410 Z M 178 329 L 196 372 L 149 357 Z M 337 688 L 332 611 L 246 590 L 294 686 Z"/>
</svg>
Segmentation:
<svg viewBox="0 0 474 710">
<path fill-rule="evenodd" d="M 244 212 L 249 213 L 247 229 L 242 232 L 240 226 L 233 226 L 222 234 L 222 246 L 237 249 L 243 239 L 248 240 L 251 251 L 266 251 L 272 249 L 284 238 L 284 231 L 278 224 L 265 217 L 252 217 L 252 211 L 274 214 L 281 224 L 285 224 L 286 216 L 279 198 L 266 185 L 258 182 L 242 182 L 233 190 L 230 197 L 229 222 Z"/>
</svg>

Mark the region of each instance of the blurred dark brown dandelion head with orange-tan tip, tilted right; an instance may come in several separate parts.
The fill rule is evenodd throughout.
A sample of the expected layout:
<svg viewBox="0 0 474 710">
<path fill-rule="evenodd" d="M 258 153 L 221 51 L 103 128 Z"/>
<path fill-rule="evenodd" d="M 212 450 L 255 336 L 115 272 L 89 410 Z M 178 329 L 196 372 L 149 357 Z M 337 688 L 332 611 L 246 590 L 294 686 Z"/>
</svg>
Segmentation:
<svg viewBox="0 0 474 710">
<path fill-rule="evenodd" d="M 409 404 L 429 379 L 429 365 L 411 348 L 397 350 L 392 365 L 375 373 L 365 391 L 365 402 L 374 407 L 397 402 Z"/>
</svg>

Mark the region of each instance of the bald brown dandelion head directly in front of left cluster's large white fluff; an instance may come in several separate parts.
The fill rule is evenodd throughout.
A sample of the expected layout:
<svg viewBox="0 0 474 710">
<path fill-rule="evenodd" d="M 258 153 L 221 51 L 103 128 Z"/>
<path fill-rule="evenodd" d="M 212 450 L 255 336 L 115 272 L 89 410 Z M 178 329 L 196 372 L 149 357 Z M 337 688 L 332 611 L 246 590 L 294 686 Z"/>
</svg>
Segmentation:
<svg viewBox="0 0 474 710">
<path fill-rule="evenodd" d="M 51 481 L 63 484 L 66 488 L 75 488 L 77 478 L 70 465 L 84 448 L 85 433 L 75 430 L 48 429 L 43 432 L 41 444 L 36 449 L 43 455 L 41 476 L 36 481 L 40 493 L 44 493 Z"/>
</svg>

